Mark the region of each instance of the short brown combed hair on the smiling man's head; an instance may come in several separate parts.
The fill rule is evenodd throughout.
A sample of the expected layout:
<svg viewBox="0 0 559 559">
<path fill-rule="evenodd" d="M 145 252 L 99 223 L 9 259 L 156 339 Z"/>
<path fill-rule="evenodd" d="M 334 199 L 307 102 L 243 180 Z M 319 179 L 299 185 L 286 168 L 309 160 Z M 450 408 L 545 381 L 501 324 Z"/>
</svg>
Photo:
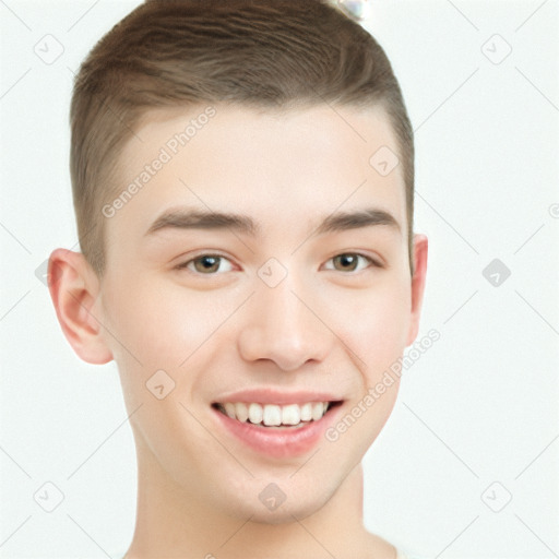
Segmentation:
<svg viewBox="0 0 559 559">
<path fill-rule="evenodd" d="M 326 0 L 147 0 L 95 45 L 74 83 L 73 202 L 82 252 L 99 277 L 102 206 L 115 198 L 119 154 L 134 127 L 153 108 L 219 102 L 383 108 L 405 181 L 414 273 L 413 129 L 374 38 Z"/>
</svg>

